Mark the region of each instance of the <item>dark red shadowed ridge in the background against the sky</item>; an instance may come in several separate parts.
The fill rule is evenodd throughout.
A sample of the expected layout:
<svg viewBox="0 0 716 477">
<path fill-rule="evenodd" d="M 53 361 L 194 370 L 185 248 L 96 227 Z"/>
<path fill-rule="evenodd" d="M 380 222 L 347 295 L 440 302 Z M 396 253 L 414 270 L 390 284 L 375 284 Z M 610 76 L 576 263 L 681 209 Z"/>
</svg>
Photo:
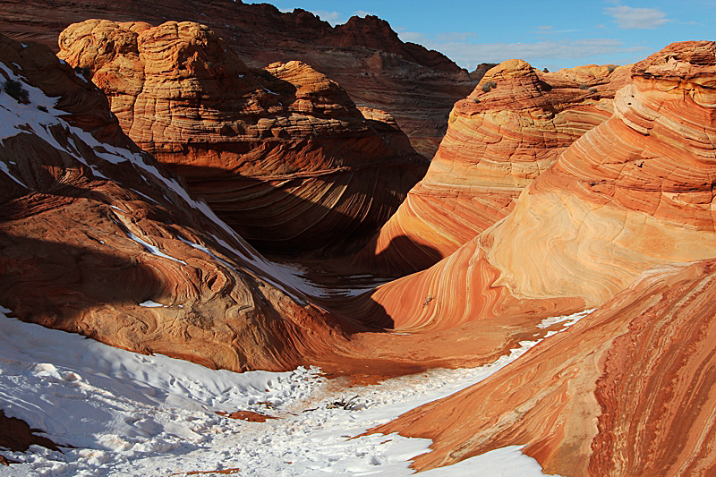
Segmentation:
<svg viewBox="0 0 716 477">
<path fill-rule="evenodd" d="M 341 84 L 358 106 L 388 111 L 429 158 L 445 134 L 450 108 L 476 83 L 445 55 L 401 41 L 386 21 L 370 15 L 334 28 L 300 9 L 281 13 L 270 4 L 233 0 L 3 0 L 0 13 L 0 32 L 53 48 L 69 24 L 91 18 L 206 24 L 251 67 L 292 60 L 311 64 Z"/>
</svg>

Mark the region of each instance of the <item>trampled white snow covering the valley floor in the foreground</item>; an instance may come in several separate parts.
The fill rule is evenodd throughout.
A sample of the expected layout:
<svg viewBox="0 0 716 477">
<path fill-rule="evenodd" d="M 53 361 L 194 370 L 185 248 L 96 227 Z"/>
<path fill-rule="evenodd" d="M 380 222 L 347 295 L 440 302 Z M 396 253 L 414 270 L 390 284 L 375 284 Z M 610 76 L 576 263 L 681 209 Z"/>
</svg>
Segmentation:
<svg viewBox="0 0 716 477">
<path fill-rule="evenodd" d="M 3 475 L 157 476 L 240 469 L 243 476 L 410 475 L 429 439 L 380 434 L 351 439 L 418 405 L 449 396 L 513 362 L 522 342 L 475 369 L 432 370 L 341 388 L 320 370 L 212 371 L 166 356 L 130 353 L 71 333 L 7 318 L 0 308 L 0 407 L 66 448 L 0 454 Z M 567 317 L 567 324 L 584 316 Z M 245 422 L 217 411 L 279 419 Z M 520 447 L 505 447 L 425 473 L 541 476 Z"/>
</svg>

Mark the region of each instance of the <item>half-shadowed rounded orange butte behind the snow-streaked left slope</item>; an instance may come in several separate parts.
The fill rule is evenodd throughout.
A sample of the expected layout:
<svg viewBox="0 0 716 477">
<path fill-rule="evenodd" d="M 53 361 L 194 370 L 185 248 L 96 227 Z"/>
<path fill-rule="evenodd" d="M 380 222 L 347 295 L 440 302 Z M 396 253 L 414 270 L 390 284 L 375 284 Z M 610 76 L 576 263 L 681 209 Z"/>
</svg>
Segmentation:
<svg viewBox="0 0 716 477">
<path fill-rule="evenodd" d="M 90 20 L 60 36 L 125 132 L 260 251 L 354 251 L 427 162 L 385 112 L 307 64 L 251 70 L 192 22 Z"/>
</svg>

